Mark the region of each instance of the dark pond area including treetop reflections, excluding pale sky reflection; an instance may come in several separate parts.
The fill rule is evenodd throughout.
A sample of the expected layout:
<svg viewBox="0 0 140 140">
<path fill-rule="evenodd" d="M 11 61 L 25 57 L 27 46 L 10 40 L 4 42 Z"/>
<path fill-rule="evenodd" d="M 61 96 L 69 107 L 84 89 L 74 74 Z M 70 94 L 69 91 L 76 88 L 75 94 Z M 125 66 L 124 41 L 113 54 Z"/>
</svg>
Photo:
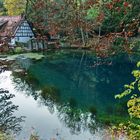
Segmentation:
<svg viewBox="0 0 140 140">
<path fill-rule="evenodd" d="M 47 106 L 72 133 L 94 133 L 98 127 L 127 121 L 126 100 L 117 101 L 123 85 L 132 81 L 135 62 L 127 56 L 96 58 L 84 53 L 59 53 L 33 64 L 28 74 L 13 74 L 24 90 Z"/>
</svg>

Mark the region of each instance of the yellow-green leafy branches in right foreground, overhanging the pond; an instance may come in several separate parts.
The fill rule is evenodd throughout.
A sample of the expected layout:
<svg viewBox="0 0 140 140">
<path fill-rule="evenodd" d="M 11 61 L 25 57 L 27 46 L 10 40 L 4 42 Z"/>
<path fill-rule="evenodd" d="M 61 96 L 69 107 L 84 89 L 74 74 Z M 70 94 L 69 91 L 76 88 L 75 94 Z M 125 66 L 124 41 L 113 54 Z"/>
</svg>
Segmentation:
<svg viewBox="0 0 140 140">
<path fill-rule="evenodd" d="M 117 133 L 125 133 L 129 140 L 137 140 L 140 138 L 140 62 L 137 63 L 137 70 L 132 72 L 135 80 L 128 85 L 125 85 L 124 92 L 115 96 L 115 98 L 123 98 L 131 95 L 131 98 L 127 102 L 128 113 L 131 117 L 130 122 L 127 124 L 120 124 L 119 126 L 112 128 Z M 133 119 L 138 120 L 134 122 Z"/>
</svg>

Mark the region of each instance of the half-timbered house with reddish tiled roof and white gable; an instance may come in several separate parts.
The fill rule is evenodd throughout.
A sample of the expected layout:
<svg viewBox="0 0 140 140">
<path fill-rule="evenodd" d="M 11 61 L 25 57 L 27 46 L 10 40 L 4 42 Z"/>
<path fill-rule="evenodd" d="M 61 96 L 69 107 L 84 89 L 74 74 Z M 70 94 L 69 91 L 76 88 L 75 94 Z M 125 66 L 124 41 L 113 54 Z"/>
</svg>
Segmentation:
<svg viewBox="0 0 140 140">
<path fill-rule="evenodd" d="M 33 38 L 33 28 L 25 17 L 0 16 L 0 40 L 15 45 L 16 42 L 27 43 Z"/>
</svg>

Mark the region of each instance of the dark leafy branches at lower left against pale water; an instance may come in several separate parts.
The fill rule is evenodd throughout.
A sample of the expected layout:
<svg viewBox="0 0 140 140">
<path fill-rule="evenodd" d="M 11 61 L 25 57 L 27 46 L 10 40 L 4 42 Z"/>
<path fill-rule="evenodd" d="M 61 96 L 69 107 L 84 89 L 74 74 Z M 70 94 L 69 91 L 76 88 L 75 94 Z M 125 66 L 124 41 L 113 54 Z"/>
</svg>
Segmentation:
<svg viewBox="0 0 140 140">
<path fill-rule="evenodd" d="M 18 134 L 22 129 L 20 123 L 24 121 L 25 117 L 14 116 L 18 106 L 12 103 L 13 97 L 14 95 L 10 94 L 9 91 L 0 89 L 0 131 Z"/>
</svg>

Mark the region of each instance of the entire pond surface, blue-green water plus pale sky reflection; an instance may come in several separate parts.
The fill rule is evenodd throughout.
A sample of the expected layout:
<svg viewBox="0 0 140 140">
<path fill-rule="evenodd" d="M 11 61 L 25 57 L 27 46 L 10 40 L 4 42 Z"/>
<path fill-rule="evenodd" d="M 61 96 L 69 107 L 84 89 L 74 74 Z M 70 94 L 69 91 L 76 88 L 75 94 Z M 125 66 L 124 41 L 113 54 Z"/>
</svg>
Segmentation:
<svg viewBox="0 0 140 140">
<path fill-rule="evenodd" d="M 103 140 L 104 126 L 127 120 L 126 99 L 114 96 L 133 80 L 136 61 L 58 51 L 34 62 L 26 76 L 3 72 L 0 87 L 15 94 L 15 115 L 26 116 L 17 139 L 27 140 L 35 129 L 43 140 Z"/>
</svg>

